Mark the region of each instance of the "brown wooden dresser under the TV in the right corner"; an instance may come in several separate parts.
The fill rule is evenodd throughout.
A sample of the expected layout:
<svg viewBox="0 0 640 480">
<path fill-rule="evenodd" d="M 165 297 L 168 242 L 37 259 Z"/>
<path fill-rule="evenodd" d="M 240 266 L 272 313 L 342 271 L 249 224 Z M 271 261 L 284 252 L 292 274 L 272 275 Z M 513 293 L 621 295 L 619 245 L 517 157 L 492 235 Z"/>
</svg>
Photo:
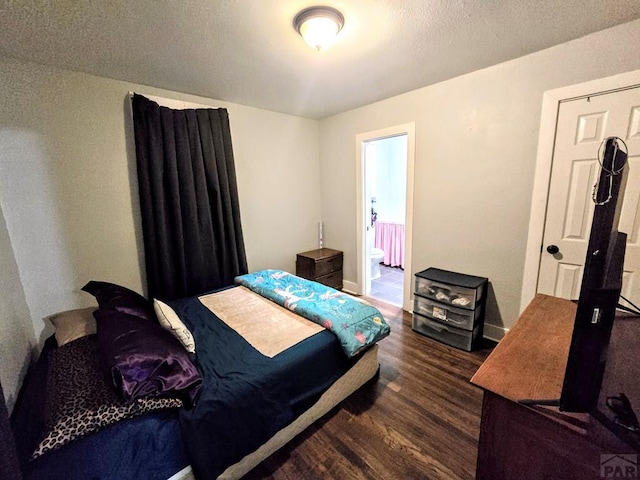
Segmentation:
<svg viewBox="0 0 640 480">
<path fill-rule="evenodd" d="M 484 389 L 477 480 L 626 478 L 601 469 L 608 456 L 637 452 L 593 416 L 518 403 L 560 398 L 575 312 L 569 300 L 537 295 L 471 379 Z"/>
</svg>

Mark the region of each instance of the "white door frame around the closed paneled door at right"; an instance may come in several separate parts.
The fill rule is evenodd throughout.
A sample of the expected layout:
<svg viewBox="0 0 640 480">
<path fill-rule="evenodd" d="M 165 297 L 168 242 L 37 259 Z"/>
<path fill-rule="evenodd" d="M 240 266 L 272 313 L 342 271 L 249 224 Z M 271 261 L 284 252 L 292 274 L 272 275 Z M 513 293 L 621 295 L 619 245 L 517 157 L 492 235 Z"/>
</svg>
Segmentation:
<svg viewBox="0 0 640 480">
<path fill-rule="evenodd" d="M 536 168 L 533 180 L 533 195 L 531 197 L 529 234 L 527 237 L 522 292 L 520 295 L 520 312 L 529 305 L 538 290 L 540 257 L 542 255 L 542 240 L 546 221 L 549 182 L 551 180 L 556 124 L 558 122 L 560 103 L 568 100 L 612 93 L 617 90 L 626 90 L 637 86 L 640 86 L 640 70 L 544 92 L 542 96 L 540 132 L 538 135 L 538 153 L 536 155 Z"/>
</svg>

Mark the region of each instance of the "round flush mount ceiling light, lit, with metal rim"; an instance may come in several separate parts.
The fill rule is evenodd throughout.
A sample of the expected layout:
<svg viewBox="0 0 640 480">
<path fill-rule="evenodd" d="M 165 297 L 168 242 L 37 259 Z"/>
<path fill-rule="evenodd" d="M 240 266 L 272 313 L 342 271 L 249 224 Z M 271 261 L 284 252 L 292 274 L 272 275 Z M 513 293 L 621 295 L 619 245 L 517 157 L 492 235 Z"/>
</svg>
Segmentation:
<svg viewBox="0 0 640 480">
<path fill-rule="evenodd" d="M 305 8 L 293 20 L 296 31 L 317 50 L 330 45 L 343 25 L 344 17 L 331 7 Z"/>
</svg>

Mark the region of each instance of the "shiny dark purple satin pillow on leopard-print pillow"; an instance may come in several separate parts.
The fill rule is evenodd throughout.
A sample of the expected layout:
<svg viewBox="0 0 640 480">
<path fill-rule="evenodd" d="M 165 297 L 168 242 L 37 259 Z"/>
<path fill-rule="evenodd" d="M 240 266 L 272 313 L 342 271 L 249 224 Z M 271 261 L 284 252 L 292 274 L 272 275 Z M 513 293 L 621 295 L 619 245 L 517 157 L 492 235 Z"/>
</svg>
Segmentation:
<svg viewBox="0 0 640 480">
<path fill-rule="evenodd" d="M 125 400 L 178 396 L 192 405 L 202 378 L 171 333 L 146 319 L 117 310 L 97 310 L 98 354 Z"/>
</svg>

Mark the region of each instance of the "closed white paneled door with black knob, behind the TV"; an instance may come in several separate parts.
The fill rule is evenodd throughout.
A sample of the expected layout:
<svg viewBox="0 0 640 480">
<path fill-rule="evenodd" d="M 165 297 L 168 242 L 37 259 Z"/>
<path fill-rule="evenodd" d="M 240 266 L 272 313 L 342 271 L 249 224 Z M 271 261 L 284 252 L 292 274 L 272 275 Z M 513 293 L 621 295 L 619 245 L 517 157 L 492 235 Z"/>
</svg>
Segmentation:
<svg viewBox="0 0 640 480">
<path fill-rule="evenodd" d="M 622 295 L 640 304 L 640 87 L 560 104 L 540 259 L 538 292 L 576 299 L 589 242 L 602 141 L 620 137 L 629 175 L 619 231 L 625 232 Z M 557 253 L 554 252 L 557 247 Z"/>
</svg>

